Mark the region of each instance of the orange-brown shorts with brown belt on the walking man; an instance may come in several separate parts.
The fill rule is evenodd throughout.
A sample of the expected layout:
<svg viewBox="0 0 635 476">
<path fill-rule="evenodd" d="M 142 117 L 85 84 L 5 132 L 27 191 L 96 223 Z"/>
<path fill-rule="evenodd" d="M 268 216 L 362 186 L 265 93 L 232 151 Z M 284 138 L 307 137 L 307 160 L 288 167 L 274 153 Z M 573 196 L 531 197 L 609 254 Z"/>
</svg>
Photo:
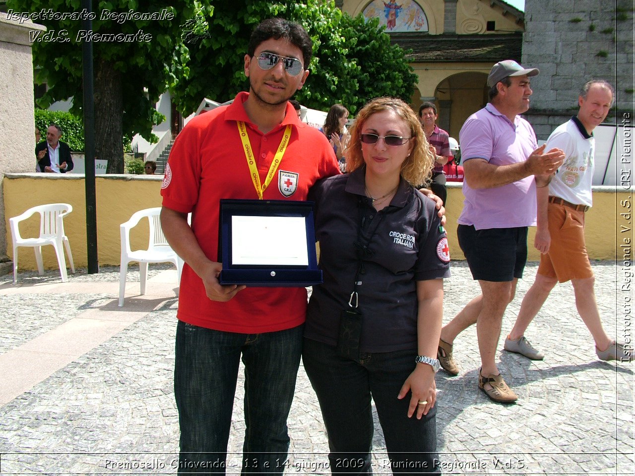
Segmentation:
<svg viewBox="0 0 635 476">
<path fill-rule="evenodd" d="M 593 277 L 584 243 L 584 211 L 550 203 L 549 253 L 540 255 L 538 274 L 555 277 L 559 282 Z"/>
</svg>

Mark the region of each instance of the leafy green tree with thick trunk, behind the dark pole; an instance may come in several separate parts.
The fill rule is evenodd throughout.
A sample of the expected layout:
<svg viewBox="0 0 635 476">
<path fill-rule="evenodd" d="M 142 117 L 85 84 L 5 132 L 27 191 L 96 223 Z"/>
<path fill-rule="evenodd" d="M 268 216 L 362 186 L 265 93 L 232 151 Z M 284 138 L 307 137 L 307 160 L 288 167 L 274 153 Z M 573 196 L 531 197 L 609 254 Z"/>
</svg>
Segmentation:
<svg viewBox="0 0 635 476">
<path fill-rule="evenodd" d="M 209 6 L 194 0 L 93 1 L 96 15 L 92 25 L 93 34 L 128 35 L 112 39 L 92 37 L 95 153 L 100 159 L 109 161 L 109 173 L 123 173 L 124 135 L 131 137 L 139 133 L 147 140 L 156 140 L 156 136 L 152 135 L 152 126 L 163 121 L 164 116 L 154 109 L 154 105 L 159 95 L 173 86 L 183 74 L 182 65 L 187 61 L 187 49 L 180 41 L 181 25 L 194 16 L 195 7 L 206 15 L 211 13 Z M 7 8 L 38 14 L 42 10 L 55 14 L 81 13 L 81 1 L 9 0 Z M 164 9 L 173 18 L 157 20 L 121 16 L 129 12 L 160 15 Z M 42 32 L 34 33 L 36 36 L 32 38 L 36 81 L 46 81 L 50 88 L 38 105 L 48 107 L 57 100 L 72 97 L 71 112 L 81 115 L 81 35 L 88 32 L 83 32 L 82 22 L 77 17 L 51 18 L 51 15 L 38 15 L 32 20 L 48 29 L 48 36 Z"/>
</svg>

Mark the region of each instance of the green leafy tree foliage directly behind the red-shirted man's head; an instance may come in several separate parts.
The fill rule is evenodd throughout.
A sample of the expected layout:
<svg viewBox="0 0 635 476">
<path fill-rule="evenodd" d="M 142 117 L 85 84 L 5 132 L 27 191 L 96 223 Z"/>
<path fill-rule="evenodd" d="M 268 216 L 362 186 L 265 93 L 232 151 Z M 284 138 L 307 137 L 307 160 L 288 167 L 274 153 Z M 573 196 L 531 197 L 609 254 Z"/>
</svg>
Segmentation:
<svg viewBox="0 0 635 476">
<path fill-rule="evenodd" d="M 417 81 L 406 52 L 390 44 L 378 21 L 366 22 L 342 13 L 323 0 L 254 2 L 211 0 L 213 16 L 198 15 L 184 35 L 189 49 L 185 75 L 172 89 L 184 114 L 196 110 L 204 97 L 217 102 L 249 88 L 244 55 L 253 28 L 265 18 L 300 23 L 313 41 L 309 79 L 295 98 L 312 109 L 344 104 L 352 113 L 377 96 L 410 102 Z"/>
</svg>

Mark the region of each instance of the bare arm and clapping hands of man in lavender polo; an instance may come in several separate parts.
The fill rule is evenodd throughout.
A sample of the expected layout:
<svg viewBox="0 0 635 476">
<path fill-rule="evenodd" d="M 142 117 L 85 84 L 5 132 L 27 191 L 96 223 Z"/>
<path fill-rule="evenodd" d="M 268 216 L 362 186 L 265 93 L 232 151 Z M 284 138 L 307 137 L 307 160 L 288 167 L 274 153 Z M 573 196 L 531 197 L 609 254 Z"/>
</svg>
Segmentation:
<svg viewBox="0 0 635 476">
<path fill-rule="evenodd" d="M 490 164 L 478 157 L 465 160 L 464 180 L 471 188 L 478 189 L 502 187 L 530 175 L 549 176 L 562 165 L 565 154 L 560 149 L 551 149 L 546 153 L 544 150 L 545 144 L 531 152 L 526 161 L 509 165 Z"/>
</svg>

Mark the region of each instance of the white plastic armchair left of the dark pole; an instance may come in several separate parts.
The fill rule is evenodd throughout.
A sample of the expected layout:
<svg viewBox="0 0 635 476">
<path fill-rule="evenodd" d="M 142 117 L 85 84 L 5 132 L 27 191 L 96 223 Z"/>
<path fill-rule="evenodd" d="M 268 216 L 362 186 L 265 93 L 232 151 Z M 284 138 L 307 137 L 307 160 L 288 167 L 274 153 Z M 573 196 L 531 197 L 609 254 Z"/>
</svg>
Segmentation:
<svg viewBox="0 0 635 476">
<path fill-rule="evenodd" d="M 64 258 L 64 246 L 69 255 L 70 272 L 75 274 L 73 255 L 70 253 L 69 239 L 64 234 L 64 216 L 73 211 L 72 206 L 67 203 L 50 203 L 29 208 L 22 215 L 9 218 L 11 226 L 11 237 L 13 238 L 13 284 L 18 281 L 18 247 L 30 246 L 36 254 L 37 272 L 44 274 L 42 262 L 42 247 L 50 244 L 55 248 L 57 264 L 60 267 L 62 282 L 69 281 L 66 274 L 66 261 Z M 40 234 L 38 238 L 23 238 L 20 235 L 20 221 L 27 220 L 30 216 L 39 213 Z M 64 246 L 62 246 L 62 243 Z"/>
</svg>

